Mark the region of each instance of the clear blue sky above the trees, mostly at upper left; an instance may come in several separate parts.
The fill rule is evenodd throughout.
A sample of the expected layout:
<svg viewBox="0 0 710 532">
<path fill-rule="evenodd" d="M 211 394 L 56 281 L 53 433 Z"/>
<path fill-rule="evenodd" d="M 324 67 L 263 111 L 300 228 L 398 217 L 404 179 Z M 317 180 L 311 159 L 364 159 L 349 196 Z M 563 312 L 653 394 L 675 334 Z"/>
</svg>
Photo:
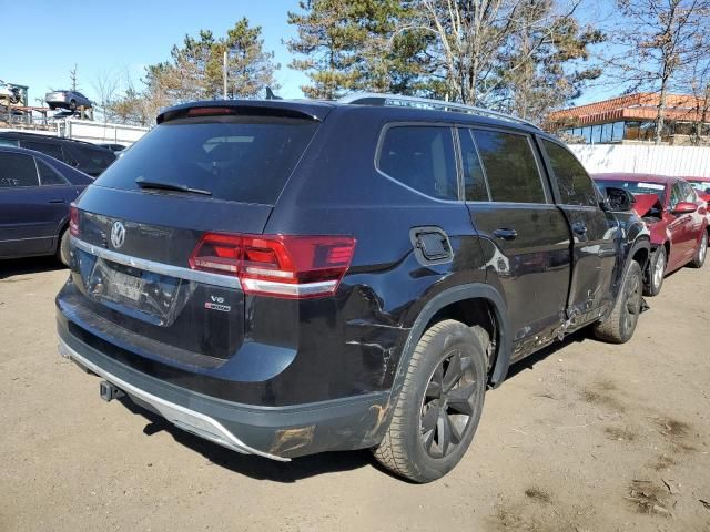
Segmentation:
<svg viewBox="0 0 710 532">
<path fill-rule="evenodd" d="M 287 68 L 291 55 L 282 40 L 295 34 L 286 23 L 286 12 L 297 9 L 297 0 L 0 0 L 2 41 L 0 79 L 30 86 L 30 104 L 50 88 L 69 86 L 69 71 L 78 64 L 79 85 L 95 99 L 93 85 L 100 75 L 130 76 L 140 84 L 148 64 L 164 61 L 173 44 L 185 33 L 201 29 L 223 35 L 241 17 L 261 25 L 266 50 L 275 52 L 282 68 L 276 73 L 281 95 L 300 98 L 306 82 L 303 73 Z M 601 13 L 609 0 L 589 0 L 580 12 L 584 19 Z M 8 21 L 13 21 L 8 23 Z M 11 45 L 10 45 L 11 44 Z M 11 50 L 11 53 L 8 51 Z M 577 103 L 616 95 L 616 88 L 591 89 Z"/>
</svg>

